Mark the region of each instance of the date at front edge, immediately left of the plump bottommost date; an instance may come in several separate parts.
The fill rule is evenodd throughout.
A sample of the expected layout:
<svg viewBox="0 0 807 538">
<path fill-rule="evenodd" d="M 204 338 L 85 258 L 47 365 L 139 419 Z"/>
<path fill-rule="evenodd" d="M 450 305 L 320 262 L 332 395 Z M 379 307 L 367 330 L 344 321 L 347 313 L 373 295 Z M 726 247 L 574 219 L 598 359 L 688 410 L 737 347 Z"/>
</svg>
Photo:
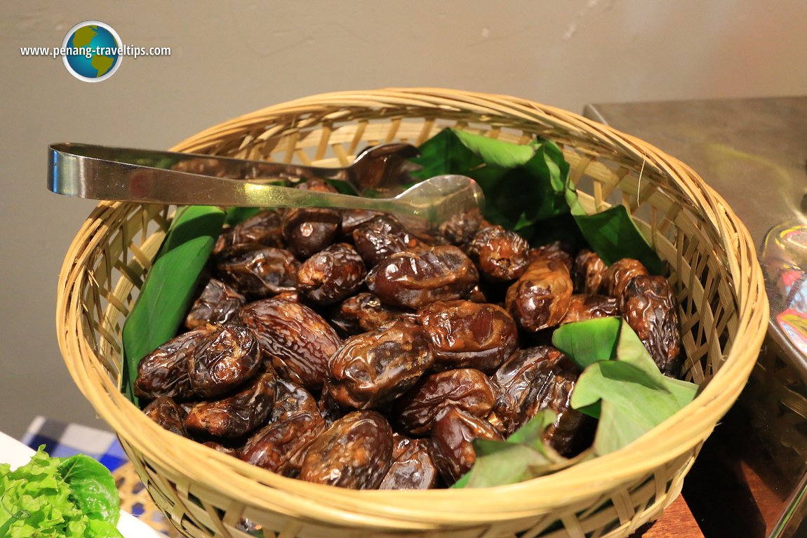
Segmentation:
<svg viewBox="0 0 807 538">
<path fill-rule="evenodd" d="M 308 447 L 324 432 L 319 413 L 299 413 L 271 422 L 247 440 L 238 457 L 286 476 L 296 476 Z"/>
</svg>

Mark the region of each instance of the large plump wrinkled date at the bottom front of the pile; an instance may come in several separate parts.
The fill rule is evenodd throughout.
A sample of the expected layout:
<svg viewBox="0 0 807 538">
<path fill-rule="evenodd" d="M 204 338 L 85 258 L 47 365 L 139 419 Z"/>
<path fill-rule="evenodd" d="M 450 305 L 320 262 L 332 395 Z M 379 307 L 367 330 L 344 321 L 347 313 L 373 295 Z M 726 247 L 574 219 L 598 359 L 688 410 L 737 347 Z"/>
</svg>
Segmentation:
<svg viewBox="0 0 807 538">
<path fill-rule="evenodd" d="M 374 490 L 392 460 L 392 428 L 376 411 L 353 411 L 323 432 L 303 458 L 299 478 Z"/>
</svg>

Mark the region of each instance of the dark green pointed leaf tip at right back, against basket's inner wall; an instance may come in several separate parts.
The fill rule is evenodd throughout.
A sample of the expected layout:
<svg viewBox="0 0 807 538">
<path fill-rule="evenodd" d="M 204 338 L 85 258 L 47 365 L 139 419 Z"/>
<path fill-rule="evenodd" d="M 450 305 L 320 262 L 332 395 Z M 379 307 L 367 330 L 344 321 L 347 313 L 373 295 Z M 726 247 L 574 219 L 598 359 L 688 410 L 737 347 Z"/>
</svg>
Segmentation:
<svg viewBox="0 0 807 538">
<path fill-rule="evenodd" d="M 575 221 L 605 265 L 633 258 L 641 261 L 650 274 L 663 274 L 663 262 L 647 244 L 625 206 L 613 206 L 593 215 L 575 215 Z"/>
</svg>

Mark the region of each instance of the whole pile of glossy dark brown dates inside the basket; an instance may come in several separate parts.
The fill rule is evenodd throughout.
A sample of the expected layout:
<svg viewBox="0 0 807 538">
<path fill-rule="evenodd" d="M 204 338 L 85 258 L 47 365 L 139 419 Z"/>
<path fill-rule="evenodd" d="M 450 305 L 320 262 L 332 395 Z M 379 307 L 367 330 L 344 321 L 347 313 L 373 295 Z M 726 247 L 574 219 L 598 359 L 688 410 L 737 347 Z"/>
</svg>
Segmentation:
<svg viewBox="0 0 807 538">
<path fill-rule="evenodd" d="M 422 236 L 367 211 L 262 211 L 224 230 L 186 331 L 140 361 L 136 394 L 169 431 L 287 477 L 445 487 L 474 465 L 472 440 L 541 409 L 558 453 L 591 444 L 570 407 L 579 369 L 550 336 L 612 315 L 679 373 L 671 287 L 638 261 L 531 248 L 479 215 Z"/>
</svg>

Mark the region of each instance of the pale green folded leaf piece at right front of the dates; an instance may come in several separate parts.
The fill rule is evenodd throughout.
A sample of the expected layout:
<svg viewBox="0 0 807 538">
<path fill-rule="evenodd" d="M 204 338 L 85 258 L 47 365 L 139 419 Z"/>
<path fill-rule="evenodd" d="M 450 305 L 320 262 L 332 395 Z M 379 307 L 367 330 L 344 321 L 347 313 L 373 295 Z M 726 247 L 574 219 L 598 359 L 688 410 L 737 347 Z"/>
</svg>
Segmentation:
<svg viewBox="0 0 807 538">
<path fill-rule="evenodd" d="M 580 323 L 589 322 L 571 324 Z M 600 402 L 594 453 L 601 456 L 658 426 L 691 402 L 697 390 L 694 383 L 664 376 L 642 340 L 621 322 L 613 360 L 592 361 L 586 367 L 575 383 L 571 407 L 588 409 Z"/>
</svg>

